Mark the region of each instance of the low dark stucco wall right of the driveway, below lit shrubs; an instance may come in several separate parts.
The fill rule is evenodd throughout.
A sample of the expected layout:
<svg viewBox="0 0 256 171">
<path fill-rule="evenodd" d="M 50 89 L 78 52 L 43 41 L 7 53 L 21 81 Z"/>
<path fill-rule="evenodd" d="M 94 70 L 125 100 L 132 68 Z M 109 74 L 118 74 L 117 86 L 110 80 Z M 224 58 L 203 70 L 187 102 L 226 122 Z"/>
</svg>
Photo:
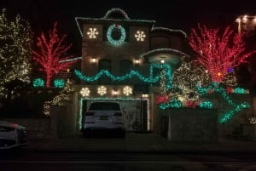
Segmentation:
<svg viewBox="0 0 256 171">
<path fill-rule="evenodd" d="M 170 140 L 213 142 L 218 140 L 218 112 L 212 109 L 166 109 Z"/>
</svg>

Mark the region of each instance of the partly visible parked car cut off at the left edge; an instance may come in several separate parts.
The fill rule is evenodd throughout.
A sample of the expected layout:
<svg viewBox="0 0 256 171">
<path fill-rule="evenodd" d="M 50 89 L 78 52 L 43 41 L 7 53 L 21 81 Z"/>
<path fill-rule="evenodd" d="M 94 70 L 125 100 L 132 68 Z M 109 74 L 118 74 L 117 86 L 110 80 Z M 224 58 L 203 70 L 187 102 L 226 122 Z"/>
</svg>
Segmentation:
<svg viewBox="0 0 256 171">
<path fill-rule="evenodd" d="M 16 123 L 0 121 L 0 150 L 24 145 L 27 145 L 26 127 Z"/>
</svg>

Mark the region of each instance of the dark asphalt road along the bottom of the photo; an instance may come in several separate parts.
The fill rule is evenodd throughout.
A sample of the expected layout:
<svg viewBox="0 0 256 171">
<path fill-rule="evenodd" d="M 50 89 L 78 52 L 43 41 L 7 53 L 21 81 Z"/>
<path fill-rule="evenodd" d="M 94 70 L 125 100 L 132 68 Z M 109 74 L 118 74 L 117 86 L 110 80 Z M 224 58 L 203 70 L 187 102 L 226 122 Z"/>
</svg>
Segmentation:
<svg viewBox="0 0 256 171">
<path fill-rule="evenodd" d="M 255 171 L 256 158 L 254 154 L 4 151 L 0 166 L 1 171 Z"/>
</svg>

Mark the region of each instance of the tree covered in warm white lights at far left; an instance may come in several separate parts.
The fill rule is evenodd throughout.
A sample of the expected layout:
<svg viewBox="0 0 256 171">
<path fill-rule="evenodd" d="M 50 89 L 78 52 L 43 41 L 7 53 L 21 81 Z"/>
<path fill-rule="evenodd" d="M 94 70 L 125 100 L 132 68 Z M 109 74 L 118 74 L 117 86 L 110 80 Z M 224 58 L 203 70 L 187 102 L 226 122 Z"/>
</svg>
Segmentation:
<svg viewBox="0 0 256 171">
<path fill-rule="evenodd" d="M 7 92 L 7 84 L 15 80 L 30 83 L 32 71 L 31 26 L 20 14 L 8 20 L 6 12 L 3 9 L 0 15 L 0 98 Z"/>
</svg>

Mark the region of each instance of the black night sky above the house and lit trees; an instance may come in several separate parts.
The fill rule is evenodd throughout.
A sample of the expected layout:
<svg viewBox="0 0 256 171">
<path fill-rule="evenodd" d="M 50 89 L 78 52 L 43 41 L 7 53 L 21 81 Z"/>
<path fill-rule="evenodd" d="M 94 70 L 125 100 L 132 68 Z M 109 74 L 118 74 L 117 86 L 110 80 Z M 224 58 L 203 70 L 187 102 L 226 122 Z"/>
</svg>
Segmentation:
<svg viewBox="0 0 256 171">
<path fill-rule="evenodd" d="M 65 0 L 60 2 L 60 0 L 0 0 L 0 9 L 7 9 L 8 16 L 20 14 L 24 19 L 29 20 L 35 36 L 41 31 L 48 31 L 54 21 L 58 21 L 59 31 L 67 34 L 71 40 L 75 39 L 77 43 L 74 43 L 74 48 L 79 51 L 81 37 L 74 18 L 101 18 L 113 8 L 123 9 L 130 19 L 155 20 L 155 26 L 181 29 L 187 34 L 198 22 L 208 26 L 224 27 L 234 25 L 238 15 L 256 14 L 255 0 Z"/>
</svg>

